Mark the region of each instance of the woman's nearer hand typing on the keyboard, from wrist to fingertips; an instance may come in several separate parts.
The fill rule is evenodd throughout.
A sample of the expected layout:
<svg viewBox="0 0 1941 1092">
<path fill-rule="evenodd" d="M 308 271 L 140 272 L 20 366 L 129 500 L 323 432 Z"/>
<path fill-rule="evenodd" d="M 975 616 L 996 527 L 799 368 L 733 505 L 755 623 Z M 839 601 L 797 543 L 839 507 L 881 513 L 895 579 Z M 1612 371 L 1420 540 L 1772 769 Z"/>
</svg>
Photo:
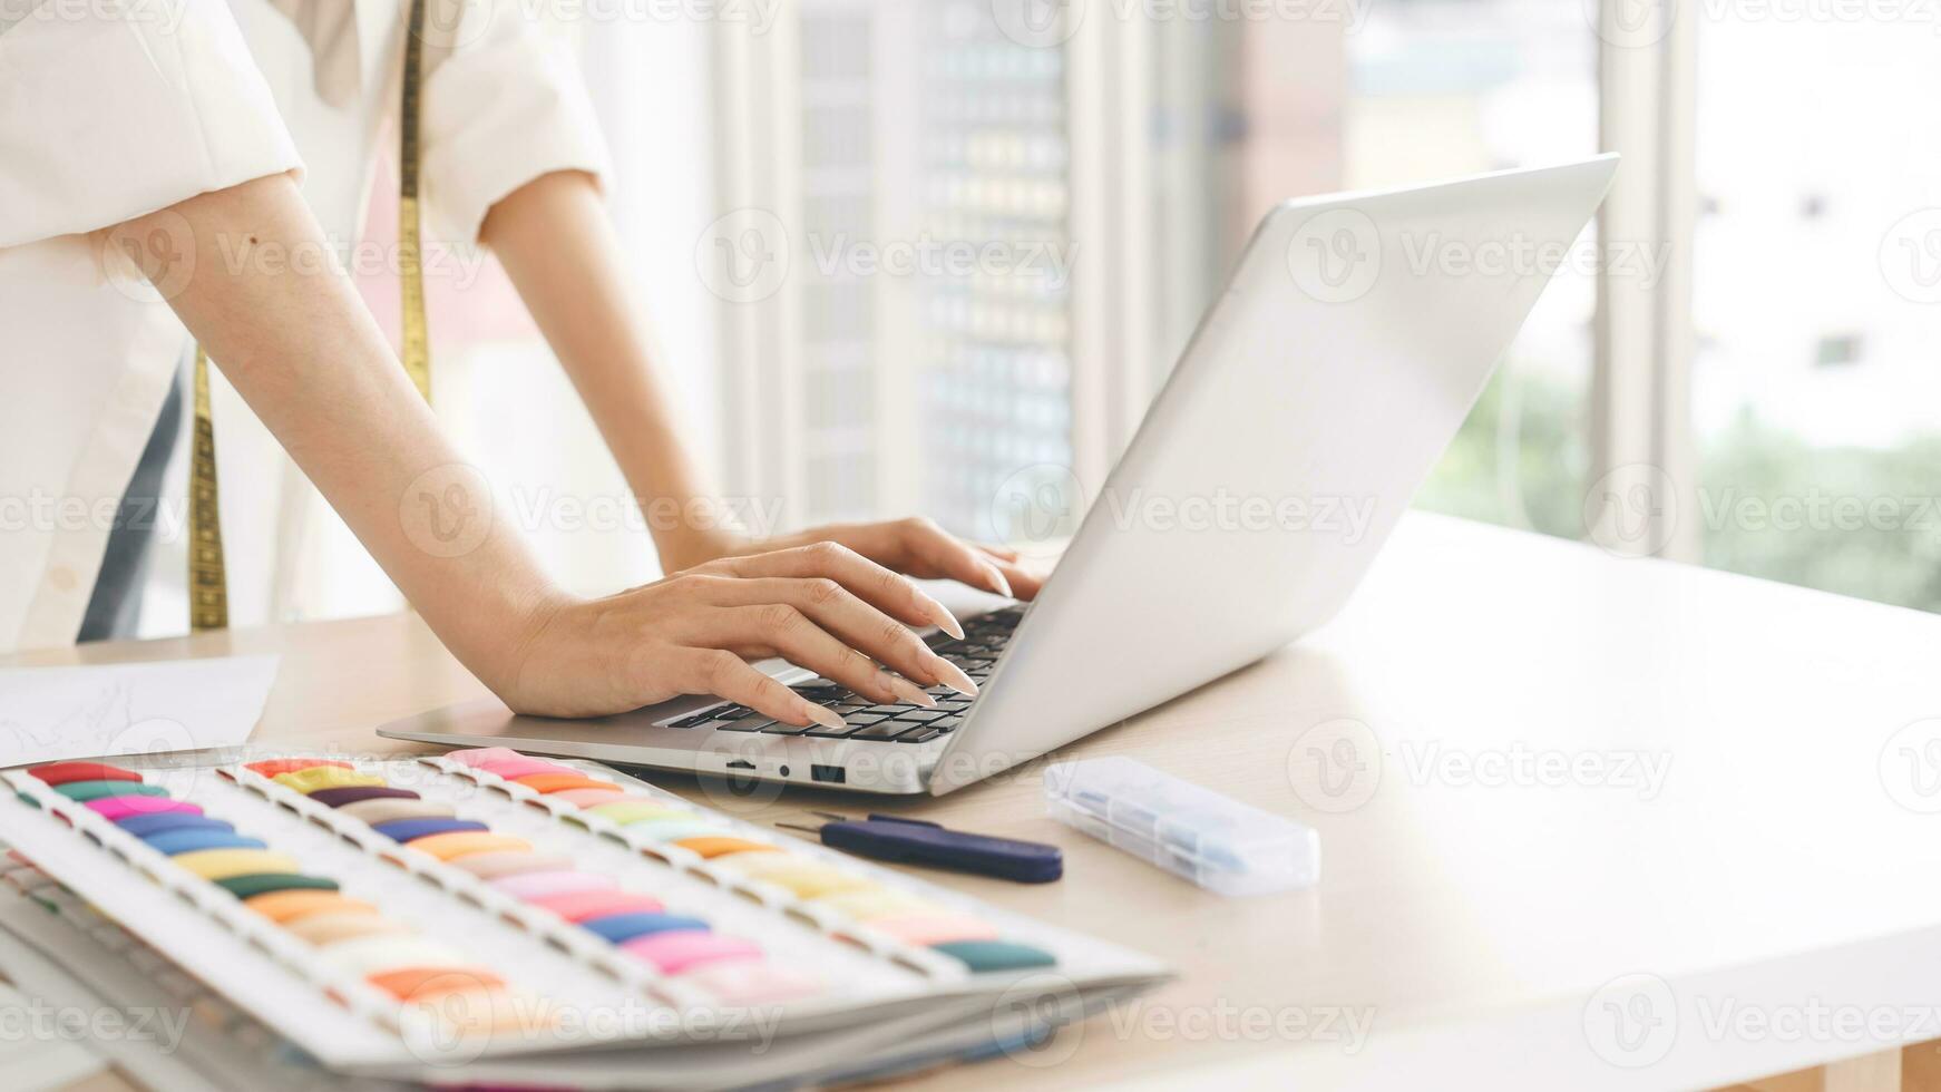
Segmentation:
<svg viewBox="0 0 1941 1092">
<path fill-rule="evenodd" d="M 794 725 L 837 727 L 833 712 L 747 659 L 780 656 L 885 704 L 936 704 L 922 691 L 936 685 L 974 694 L 976 683 L 908 628 L 924 625 L 963 634 L 910 580 L 819 541 L 728 557 L 606 599 L 549 603 L 514 677 L 493 689 L 526 714 L 604 716 L 716 694 Z"/>
</svg>

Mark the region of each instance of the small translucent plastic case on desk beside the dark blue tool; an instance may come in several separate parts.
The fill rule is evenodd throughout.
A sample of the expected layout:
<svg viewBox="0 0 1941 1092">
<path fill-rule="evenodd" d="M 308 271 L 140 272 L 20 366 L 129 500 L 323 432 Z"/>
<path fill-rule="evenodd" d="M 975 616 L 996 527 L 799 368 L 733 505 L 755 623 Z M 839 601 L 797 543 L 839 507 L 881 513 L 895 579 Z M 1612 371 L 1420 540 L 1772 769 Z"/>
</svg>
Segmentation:
<svg viewBox="0 0 1941 1092">
<path fill-rule="evenodd" d="M 1217 894 L 1302 888 L 1322 875 L 1322 842 L 1312 826 L 1132 758 L 1046 768 L 1044 803 L 1066 826 Z"/>
</svg>

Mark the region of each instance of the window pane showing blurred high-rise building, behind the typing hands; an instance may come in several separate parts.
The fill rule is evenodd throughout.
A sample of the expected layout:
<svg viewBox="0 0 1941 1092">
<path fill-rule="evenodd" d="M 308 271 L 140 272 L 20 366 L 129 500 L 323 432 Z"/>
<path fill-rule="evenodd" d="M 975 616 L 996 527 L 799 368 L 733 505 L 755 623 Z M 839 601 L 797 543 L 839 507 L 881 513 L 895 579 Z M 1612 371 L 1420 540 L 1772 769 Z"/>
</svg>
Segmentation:
<svg viewBox="0 0 1941 1092">
<path fill-rule="evenodd" d="M 798 17 L 800 518 L 1000 537 L 1003 483 L 1073 462 L 1066 54 L 972 0 Z"/>
</svg>

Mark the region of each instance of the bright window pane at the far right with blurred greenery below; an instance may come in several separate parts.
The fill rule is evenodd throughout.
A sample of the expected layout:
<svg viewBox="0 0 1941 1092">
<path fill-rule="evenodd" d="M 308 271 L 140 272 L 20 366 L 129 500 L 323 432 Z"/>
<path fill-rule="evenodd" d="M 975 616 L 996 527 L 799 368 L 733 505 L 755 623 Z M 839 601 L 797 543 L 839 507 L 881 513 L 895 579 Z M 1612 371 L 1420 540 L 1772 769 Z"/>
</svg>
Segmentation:
<svg viewBox="0 0 1941 1092">
<path fill-rule="evenodd" d="M 1696 45 L 1704 562 L 1941 609 L 1941 144 L 1906 109 L 1941 41 L 1735 16 Z"/>
</svg>

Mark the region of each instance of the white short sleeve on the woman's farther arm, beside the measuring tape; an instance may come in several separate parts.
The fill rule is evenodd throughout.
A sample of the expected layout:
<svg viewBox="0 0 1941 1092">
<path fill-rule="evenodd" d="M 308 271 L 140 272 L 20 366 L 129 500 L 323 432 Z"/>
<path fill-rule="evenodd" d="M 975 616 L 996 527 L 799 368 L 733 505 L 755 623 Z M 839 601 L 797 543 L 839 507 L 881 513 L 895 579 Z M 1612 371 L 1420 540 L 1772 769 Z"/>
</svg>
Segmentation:
<svg viewBox="0 0 1941 1092">
<path fill-rule="evenodd" d="M 491 206 L 542 175 L 584 171 L 606 186 L 606 142 L 578 66 L 514 4 L 466 4 L 425 78 L 421 126 L 425 206 L 452 242 L 477 241 Z"/>
</svg>

